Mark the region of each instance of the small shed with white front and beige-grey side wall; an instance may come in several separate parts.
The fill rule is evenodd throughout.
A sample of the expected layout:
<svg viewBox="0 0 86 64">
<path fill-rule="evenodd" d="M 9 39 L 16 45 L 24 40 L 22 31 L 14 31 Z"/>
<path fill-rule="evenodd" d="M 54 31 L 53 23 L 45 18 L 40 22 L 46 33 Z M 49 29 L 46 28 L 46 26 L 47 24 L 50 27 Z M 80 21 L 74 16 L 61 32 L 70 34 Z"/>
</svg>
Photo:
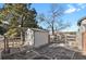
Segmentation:
<svg viewBox="0 0 86 64">
<path fill-rule="evenodd" d="M 25 33 L 25 42 L 38 48 L 49 42 L 49 31 L 38 28 L 28 28 Z"/>
</svg>

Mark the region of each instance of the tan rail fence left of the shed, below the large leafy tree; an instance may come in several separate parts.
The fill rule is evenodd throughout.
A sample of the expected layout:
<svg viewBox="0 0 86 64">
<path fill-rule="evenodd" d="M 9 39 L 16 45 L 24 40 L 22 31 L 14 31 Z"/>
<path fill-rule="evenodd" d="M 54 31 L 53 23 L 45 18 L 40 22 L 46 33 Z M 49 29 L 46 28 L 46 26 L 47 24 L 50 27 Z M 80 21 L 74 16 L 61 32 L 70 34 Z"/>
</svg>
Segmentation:
<svg viewBox="0 0 86 64">
<path fill-rule="evenodd" d="M 19 48 L 22 46 L 21 37 L 0 37 L 0 50 L 4 49 L 4 43 L 8 43 L 9 48 Z"/>
</svg>

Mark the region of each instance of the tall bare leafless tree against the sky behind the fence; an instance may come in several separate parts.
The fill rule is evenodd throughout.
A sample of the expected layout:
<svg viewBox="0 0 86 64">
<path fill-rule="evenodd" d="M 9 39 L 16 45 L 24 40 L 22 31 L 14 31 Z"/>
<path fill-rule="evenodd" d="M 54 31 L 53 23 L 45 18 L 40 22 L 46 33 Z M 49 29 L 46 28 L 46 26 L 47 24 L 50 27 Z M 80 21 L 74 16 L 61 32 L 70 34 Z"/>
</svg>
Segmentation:
<svg viewBox="0 0 86 64">
<path fill-rule="evenodd" d="M 56 30 L 61 30 L 70 26 L 70 24 L 64 23 L 61 17 L 64 14 L 64 9 L 60 4 L 51 4 L 49 14 L 46 16 L 45 14 L 39 14 L 39 23 L 45 22 L 47 24 L 47 28 L 49 28 L 54 35 Z"/>
</svg>

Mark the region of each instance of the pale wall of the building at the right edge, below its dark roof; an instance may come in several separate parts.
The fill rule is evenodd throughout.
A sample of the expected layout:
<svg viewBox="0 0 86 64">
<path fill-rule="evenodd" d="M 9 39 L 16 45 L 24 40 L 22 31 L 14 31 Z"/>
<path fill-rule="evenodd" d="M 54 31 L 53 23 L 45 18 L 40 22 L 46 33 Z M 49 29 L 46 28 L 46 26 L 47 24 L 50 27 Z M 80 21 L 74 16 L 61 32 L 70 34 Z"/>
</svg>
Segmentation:
<svg viewBox="0 0 86 64">
<path fill-rule="evenodd" d="M 82 21 L 81 26 L 78 26 L 78 29 L 79 29 L 77 33 L 78 49 L 84 51 L 86 49 L 85 47 L 86 20 Z"/>
</svg>

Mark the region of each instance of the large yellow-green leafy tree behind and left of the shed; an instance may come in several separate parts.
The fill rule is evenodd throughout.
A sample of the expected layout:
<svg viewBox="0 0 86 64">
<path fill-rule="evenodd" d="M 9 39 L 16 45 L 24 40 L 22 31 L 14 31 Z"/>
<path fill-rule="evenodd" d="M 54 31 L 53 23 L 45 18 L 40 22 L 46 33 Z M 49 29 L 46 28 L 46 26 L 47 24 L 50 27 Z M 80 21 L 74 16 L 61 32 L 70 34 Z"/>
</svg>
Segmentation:
<svg viewBox="0 0 86 64">
<path fill-rule="evenodd" d="M 30 3 L 7 3 L 0 10 L 0 22 L 7 21 L 9 23 L 5 35 L 9 37 L 22 35 L 23 28 L 38 28 L 35 9 L 30 8 Z"/>
</svg>

